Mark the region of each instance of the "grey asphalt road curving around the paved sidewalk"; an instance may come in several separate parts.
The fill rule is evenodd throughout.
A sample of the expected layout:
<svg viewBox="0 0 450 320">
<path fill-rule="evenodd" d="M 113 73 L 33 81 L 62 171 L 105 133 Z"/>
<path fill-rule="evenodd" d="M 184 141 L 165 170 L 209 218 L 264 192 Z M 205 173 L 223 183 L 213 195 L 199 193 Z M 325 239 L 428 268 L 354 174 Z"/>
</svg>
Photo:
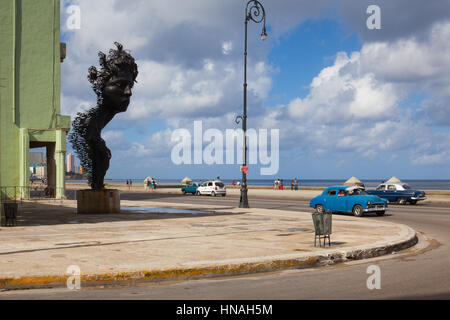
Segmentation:
<svg viewBox="0 0 450 320">
<path fill-rule="evenodd" d="M 154 200 L 236 206 L 238 197 L 196 197 L 123 193 L 123 200 Z M 250 198 L 252 207 L 309 211 L 308 201 Z M 394 255 L 331 267 L 287 270 L 250 276 L 141 283 L 135 286 L 42 289 L 0 293 L 0 299 L 450 299 L 450 206 L 391 205 L 384 219 L 406 224 L 419 233 L 419 243 Z M 367 268 L 376 265 L 381 288 L 369 290 Z"/>
</svg>

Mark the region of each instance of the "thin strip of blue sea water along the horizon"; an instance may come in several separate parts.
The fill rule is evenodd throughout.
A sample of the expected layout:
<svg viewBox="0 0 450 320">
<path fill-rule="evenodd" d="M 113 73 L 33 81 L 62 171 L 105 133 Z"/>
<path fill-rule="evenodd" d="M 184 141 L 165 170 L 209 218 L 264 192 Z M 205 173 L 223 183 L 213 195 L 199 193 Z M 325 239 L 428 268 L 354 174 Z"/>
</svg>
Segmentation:
<svg viewBox="0 0 450 320">
<path fill-rule="evenodd" d="M 131 179 L 133 181 L 133 185 L 144 184 L 144 179 Z M 105 179 L 105 183 L 109 184 L 126 184 L 127 179 Z M 202 179 L 205 181 L 207 179 Z M 383 180 L 364 180 L 360 179 L 366 187 L 374 188 L 378 186 Z M 194 181 L 200 181 L 200 179 L 194 179 Z M 232 179 L 222 179 L 222 181 L 226 185 L 231 185 Z M 272 179 L 248 179 L 247 184 L 251 186 L 273 186 Z M 329 187 L 342 185 L 345 180 L 325 180 L 325 179 L 305 179 L 299 180 L 300 187 Z M 409 184 L 414 189 L 424 189 L 424 190 L 450 190 L 450 180 L 402 180 L 404 183 Z M 67 183 L 87 183 L 86 180 L 67 180 Z M 159 186 L 164 185 L 174 185 L 180 184 L 181 179 L 157 179 Z M 236 180 L 237 182 L 237 180 Z M 291 179 L 284 179 L 284 185 L 286 187 L 290 187 Z"/>
</svg>

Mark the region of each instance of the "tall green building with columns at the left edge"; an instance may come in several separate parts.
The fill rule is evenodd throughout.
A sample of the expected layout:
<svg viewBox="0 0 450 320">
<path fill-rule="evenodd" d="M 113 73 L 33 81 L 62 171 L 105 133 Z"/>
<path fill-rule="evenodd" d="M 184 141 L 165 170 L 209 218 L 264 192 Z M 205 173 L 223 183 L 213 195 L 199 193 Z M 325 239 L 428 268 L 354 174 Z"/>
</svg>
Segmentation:
<svg viewBox="0 0 450 320">
<path fill-rule="evenodd" d="M 0 40 L 0 187 L 29 186 L 29 149 L 47 147 L 48 183 L 62 198 L 70 117 L 60 114 L 59 0 L 0 0 Z"/>
</svg>

